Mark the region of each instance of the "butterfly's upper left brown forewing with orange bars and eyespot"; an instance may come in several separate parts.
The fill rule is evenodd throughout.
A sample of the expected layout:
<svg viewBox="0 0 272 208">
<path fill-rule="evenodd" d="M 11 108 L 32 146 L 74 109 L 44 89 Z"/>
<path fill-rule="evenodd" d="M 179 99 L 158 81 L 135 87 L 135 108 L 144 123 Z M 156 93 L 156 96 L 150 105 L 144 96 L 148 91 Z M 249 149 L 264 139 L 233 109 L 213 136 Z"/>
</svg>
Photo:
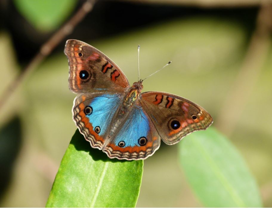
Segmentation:
<svg viewBox="0 0 272 208">
<path fill-rule="evenodd" d="M 129 82 L 105 54 L 79 40 L 67 40 L 64 53 L 69 63 L 69 88 L 74 93 L 123 92 Z"/>
</svg>

